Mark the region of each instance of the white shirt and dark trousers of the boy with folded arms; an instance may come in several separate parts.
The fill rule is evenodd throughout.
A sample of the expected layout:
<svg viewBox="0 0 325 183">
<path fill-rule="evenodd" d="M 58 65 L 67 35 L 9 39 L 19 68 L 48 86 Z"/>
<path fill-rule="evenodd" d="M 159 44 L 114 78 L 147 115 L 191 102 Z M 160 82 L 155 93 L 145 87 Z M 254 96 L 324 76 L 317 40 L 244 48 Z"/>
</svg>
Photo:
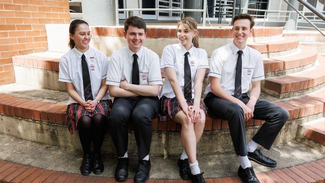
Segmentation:
<svg viewBox="0 0 325 183">
<path fill-rule="evenodd" d="M 128 46 L 124 46 L 111 55 L 106 84 L 119 87 L 122 80 L 132 83 L 133 54 Z M 158 55 L 144 46 L 141 46 L 135 54 L 139 69 L 139 84 L 162 85 Z M 139 159 L 149 153 L 152 137 L 151 120 L 158 111 L 157 96 L 114 98 L 109 129 L 119 157 L 127 151 L 128 122 L 132 122 L 134 126 Z"/>
</svg>

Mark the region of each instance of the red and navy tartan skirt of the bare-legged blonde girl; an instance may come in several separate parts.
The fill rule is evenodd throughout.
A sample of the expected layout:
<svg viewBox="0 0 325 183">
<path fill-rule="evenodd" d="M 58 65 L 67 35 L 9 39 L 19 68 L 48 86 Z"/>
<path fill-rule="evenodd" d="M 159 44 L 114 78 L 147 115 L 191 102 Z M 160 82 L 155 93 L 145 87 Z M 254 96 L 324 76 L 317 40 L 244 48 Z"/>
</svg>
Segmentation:
<svg viewBox="0 0 325 183">
<path fill-rule="evenodd" d="M 188 106 L 193 105 L 193 100 L 194 99 L 186 101 L 187 105 Z M 173 118 L 176 115 L 176 113 L 182 111 L 176 97 L 167 98 L 166 96 L 162 96 L 160 98 L 160 103 L 161 103 L 161 107 L 160 107 L 160 112 L 158 113 L 159 120 L 169 120 Z M 206 109 L 202 101 L 199 102 L 199 107 L 206 114 Z"/>
</svg>

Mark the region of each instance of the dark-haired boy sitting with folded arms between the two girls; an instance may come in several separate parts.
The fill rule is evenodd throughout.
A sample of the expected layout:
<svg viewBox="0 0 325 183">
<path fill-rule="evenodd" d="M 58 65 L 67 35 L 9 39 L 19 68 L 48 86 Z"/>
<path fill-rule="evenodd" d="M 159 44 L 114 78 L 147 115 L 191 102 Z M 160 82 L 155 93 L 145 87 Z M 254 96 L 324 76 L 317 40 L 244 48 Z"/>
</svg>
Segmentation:
<svg viewBox="0 0 325 183">
<path fill-rule="evenodd" d="M 128 122 L 134 127 L 138 164 L 134 182 L 145 182 L 151 167 L 149 150 L 152 137 L 151 120 L 159 111 L 157 97 L 162 85 L 158 55 L 142 46 L 146 37 L 145 23 L 137 16 L 124 22 L 124 46 L 111 55 L 106 84 L 114 97 L 109 130 L 117 151 L 115 179 L 128 177 Z"/>
</svg>

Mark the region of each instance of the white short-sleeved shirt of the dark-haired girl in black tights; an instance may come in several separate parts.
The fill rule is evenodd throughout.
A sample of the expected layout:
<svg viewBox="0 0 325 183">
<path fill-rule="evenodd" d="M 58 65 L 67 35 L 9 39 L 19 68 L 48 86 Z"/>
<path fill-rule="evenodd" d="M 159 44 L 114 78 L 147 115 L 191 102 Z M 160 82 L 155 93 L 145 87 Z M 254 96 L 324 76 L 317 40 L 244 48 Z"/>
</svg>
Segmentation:
<svg viewBox="0 0 325 183">
<path fill-rule="evenodd" d="M 60 58 L 58 80 L 62 82 L 71 82 L 76 92 L 84 99 L 81 56 L 85 55 L 88 64 L 92 97 L 95 98 L 100 88 L 101 79 L 106 78 L 108 59 L 107 56 L 97 49 L 89 46 L 84 53 L 78 51 L 75 47 L 69 50 Z M 110 99 L 109 93 L 102 99 Z M 69 97 L 68 104 L 77 103 Z"/>
</svg>

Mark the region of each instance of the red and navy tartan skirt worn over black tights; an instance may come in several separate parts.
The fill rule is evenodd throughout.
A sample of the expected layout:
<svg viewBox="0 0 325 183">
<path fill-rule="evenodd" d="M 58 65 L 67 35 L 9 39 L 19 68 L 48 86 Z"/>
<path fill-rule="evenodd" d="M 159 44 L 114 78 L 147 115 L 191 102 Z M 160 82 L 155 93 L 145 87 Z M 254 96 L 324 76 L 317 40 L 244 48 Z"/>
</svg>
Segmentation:
<svg viewBox="0 0 325 183">
<path fill-rule="evenodd" d="M 83 115 L 92 117 L 95 114 L 100 113 L 108 118 L 108 116 L 110 115 L 111 103 L 111 99 L 100 100 L 99 103 L 96 105 L 95 110 L 92 112 L 86 111 L 85 108 L 79 103 L 71 103 L 67 105 L 65 122 L 70 133 L 72 134 L 75 129 L 77 129 L 78 120 Z"/>
</svg>

